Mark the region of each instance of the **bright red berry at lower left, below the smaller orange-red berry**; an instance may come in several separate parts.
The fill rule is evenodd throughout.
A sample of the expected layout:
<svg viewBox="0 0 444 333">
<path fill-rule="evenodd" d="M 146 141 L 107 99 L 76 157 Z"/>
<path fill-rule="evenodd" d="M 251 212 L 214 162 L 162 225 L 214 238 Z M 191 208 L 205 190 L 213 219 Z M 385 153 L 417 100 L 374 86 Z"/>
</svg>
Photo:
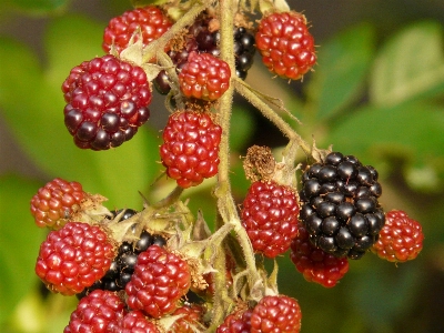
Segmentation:
<svg viewBox="0 0 444 333">
<path fill-rule="evenodd" d="M 68 222 L 40 245 L 36 273 L 50 291 L 73 295 L 102 279 L 113 258 L 113 245 L 99 226 Z"/>
</svg>

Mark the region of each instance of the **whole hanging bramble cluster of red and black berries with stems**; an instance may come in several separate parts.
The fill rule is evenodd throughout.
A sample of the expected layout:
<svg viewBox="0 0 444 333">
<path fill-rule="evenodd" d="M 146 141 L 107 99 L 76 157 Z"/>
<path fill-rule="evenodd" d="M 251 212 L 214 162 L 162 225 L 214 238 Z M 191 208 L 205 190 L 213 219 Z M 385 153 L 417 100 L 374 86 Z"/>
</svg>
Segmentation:
<svg viewBox="0 0 444 333">
<path fill-rule="evenodd" d="M 51 78 L 61 79 L 65 105 L 64 124 L 50 121 L 68 131 L 63 140 L 72 137 L 79 157 L 133 143 L 160 157 L 149 168 L 154 175 L 131 180 L 152 182 L 141 209 L 115 198 L 109 209 L 107 193 L 89 193 L 82 158 L 78 179 L 58 176 L 29 198 L 36 225 L 48 230 L 36 274 L 52 293 L 79 300 L 63 332 L 295 333 L 305 312 L 297 291 L 281 291 L 284 260 L 331 289 L 372 253 L 396 264 L 417 258 L 422 226 L 384 206 L 376 168 L 359 150 L 320 147 L 279 95 L 245 81 L 253 65 L 266 68 L 270 82 L 311 71 L 316 80 L 316 61 L 329 59 L 302 12 L 285 0 L 132 3 L 102 27 L 105 54 Z M 143 128 L 155 99 L 168 121 L 153 144 Z M 281 132 L 284 148 L 252 143 L 233 154 L 240 100 Z M 119 183 L 132 163 L 110 161 L 101 171 Z M 234 173 L 248 185 L 241 194 Z M 210 198 L 202 204 L 185 198 L 200 189 Z"/>
</svg>

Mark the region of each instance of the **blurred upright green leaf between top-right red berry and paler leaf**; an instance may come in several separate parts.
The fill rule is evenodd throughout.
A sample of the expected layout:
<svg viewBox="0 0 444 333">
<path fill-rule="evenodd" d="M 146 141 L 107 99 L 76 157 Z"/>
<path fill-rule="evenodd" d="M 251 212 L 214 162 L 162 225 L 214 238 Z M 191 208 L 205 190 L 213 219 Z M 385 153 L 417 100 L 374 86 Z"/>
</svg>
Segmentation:
<svg viewBox="0 0 444 333">
<path fill-rule="evenodd" d="M 362 91 L 374 54 L 374 29 L 360 24 L 319 49 L 309 95 L 319 119 L 331 118 Z"/>
</svg>

